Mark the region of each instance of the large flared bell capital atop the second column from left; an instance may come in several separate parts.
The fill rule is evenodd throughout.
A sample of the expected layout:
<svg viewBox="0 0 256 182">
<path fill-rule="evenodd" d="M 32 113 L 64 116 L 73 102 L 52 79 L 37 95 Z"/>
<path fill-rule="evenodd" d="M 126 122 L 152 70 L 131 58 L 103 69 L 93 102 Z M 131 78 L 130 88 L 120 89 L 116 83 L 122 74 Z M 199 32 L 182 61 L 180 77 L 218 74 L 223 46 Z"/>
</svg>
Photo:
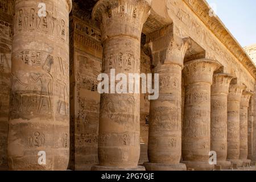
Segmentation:
<svg viewBox="0 0 256 182">
<path fill-rule="evenodd" d="M 101 23 L 102 41 L 122 35 L 140 41 L 149 11 L 146 0 L 100 0 L 93 8 L 92 18 Z"/>
</svg>

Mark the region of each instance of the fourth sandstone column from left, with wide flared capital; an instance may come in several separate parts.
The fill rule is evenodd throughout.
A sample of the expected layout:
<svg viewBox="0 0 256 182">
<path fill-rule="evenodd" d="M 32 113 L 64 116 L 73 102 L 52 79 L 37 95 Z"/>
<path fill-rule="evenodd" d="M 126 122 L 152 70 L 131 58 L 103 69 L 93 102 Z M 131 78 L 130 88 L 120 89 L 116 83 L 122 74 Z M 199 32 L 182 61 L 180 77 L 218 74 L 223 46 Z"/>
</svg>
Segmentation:
<svg viewBox="0 0 256 182">
<path fill-rule="evenodd" d="M 185 63 L 185 108 L 182 138 L 183 163 L 187 168 L 210 170 L 210 86 L 221 65 L 199 59 Z"/>
</svg>

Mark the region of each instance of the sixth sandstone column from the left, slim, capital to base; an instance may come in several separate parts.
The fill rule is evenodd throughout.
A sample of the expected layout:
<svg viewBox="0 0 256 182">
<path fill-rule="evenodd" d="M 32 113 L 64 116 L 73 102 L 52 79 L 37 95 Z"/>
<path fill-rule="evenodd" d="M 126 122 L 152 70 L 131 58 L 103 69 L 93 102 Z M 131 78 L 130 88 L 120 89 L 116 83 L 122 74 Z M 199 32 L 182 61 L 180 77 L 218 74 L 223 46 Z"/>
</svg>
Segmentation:
<svg viewBox="0 0 256 182">
<path fill-rule="evenodd" d="M 240 156 L 240 101 L 245 86 L 232 84 L 228 94 L 228 156 L 227 160 L 242 166 Z"/>
</svg>

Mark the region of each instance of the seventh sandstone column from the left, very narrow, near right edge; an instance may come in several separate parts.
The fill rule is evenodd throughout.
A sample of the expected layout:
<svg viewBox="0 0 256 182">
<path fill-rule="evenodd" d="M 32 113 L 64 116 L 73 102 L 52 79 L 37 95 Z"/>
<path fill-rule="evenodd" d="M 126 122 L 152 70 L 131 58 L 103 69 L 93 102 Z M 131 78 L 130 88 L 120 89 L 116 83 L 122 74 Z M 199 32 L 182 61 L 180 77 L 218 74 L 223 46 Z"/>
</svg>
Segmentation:
<svg viewBox="0 0 256 182">
<path fill-rule="evenodd" d="M 243 163 L 250 163 L 248 156 L 248 108 L 251 92 L 243 92 L 240 102 L 240 157 Z"/>
</svg>

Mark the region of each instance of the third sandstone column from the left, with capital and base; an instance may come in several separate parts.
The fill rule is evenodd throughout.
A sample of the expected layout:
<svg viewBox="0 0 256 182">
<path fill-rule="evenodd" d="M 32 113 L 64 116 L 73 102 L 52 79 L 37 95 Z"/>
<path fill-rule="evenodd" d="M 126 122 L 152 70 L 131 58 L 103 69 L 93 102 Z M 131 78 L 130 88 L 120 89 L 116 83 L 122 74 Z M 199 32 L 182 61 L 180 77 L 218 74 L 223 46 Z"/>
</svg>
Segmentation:
<svg viewBox="0 0 256 182">
<path fill-rule="evenodd" d="M 159 74 L 159 98 L 150 101 L 149 163 L 144 163 L 144 166 L 147 171 L 182 171 L 187 168 L 180 163 L 181 75 L 189 43 L 185 39 L 174 38 L 172 26 L 160 31 L 167 35 L 151 38 L 150 43 L 156 65 L 154 72 Z M 169 44 L 166 46 L 166 43 Z M 163 55 L 166 57 L 160 57 L 161 52 L 165 52 Z"/>
</svg>

